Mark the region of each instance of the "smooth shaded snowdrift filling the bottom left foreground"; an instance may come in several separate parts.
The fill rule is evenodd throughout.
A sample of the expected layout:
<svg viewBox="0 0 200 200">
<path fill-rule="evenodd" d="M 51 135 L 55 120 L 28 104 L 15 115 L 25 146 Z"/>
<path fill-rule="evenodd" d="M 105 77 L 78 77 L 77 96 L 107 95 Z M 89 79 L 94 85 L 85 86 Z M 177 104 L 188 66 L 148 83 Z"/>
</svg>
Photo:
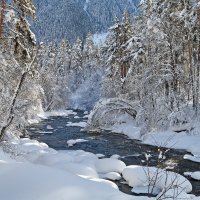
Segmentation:
<svg viewBox="0 0 200 200">
<path fill-rule="evenodd" d="M 134 199 L 122 195 L 104 181 L 89 181 L 69 172 L 31 163 L 1 164 L 0 177 L 1 199 L 5 200 Z"/>
</svg>

